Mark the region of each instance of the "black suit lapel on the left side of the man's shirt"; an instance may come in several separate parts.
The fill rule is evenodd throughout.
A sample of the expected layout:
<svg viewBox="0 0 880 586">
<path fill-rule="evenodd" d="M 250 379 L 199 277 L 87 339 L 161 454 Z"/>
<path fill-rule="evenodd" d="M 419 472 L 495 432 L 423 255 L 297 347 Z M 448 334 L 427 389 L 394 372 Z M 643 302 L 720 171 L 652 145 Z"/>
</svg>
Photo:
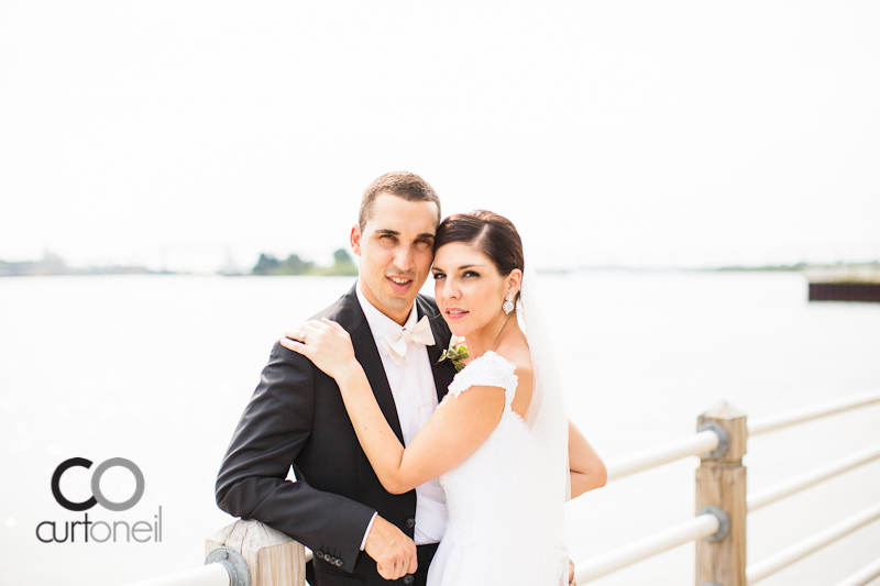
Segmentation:
<svg viewBox="0 0 880 586">
<path fill-rule="evenodd" d="M 394 405 L 394 396 L 392 395 L 392 387 L 388 384 L 388 377 L 385 375 L 385 367 L 382 365 L 382 357 L 378 355 L 376 349 L 376 341 L 373 338 L 373 332 L 370 330 L 370 324 L 366 322 L 364 310 L 361 308 L 361 302 L 358 300 L 356 289 L 358 284 L 352 287 L 348 295 L 343 298 L 343 309 L 348 313 L 346 322 L 351 324 L 349 335 L 351 335 L 351 343 L 354 346 L 354 357 L 361 363 L 366 374 L 366 379 L 373 389 L 373 395 L 376 397 L 376 402 L 382 414 L 388 421 L 388 424 L 394 430 L 394 434 L 404 442 L 404 432 L 400 429 L 400 420 L 397 417 L 397 407 Z M 341 316 L 340 316 L 341 317 Z M 340 323 L 343 323 L 340 320 Z"/>
</svg>

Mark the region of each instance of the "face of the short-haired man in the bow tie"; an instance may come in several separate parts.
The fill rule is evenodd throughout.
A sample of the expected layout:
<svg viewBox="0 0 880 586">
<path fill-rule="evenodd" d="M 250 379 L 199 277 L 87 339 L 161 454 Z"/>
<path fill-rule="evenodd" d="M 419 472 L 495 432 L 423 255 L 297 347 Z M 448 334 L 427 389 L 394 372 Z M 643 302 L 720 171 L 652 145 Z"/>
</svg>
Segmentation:
<svg viewBox="0 0 880 586">
<path fill-rule="evenodd" d="M 376 197 L 363 233 L 356 225 L 352 229 L 364 296 L 397 323 L 406 322 L 428 278 L 436 234 L 437 204 L 389 194 Z"/>
</svg>

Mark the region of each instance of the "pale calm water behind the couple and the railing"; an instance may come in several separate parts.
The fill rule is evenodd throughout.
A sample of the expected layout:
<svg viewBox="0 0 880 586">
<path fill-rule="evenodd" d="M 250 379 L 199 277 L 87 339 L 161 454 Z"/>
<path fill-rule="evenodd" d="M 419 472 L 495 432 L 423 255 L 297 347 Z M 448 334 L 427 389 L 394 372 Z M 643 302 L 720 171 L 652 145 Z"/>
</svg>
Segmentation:
<svg viewBox="0 0 880 586">
<path fill-rule="evenodd" d="M 45 277 L 0 280 L 0 584 L 114 585 L 201 564 L 217 469 L 273 341 L 344 294 L 351 278 Z M 544 277 L 572 417 L 607 460 L 694 431 L 719 399 L 750 416 L 880 388 L 880 306 L 814 303 L 799 275 L 584 273 Z M 756 438 L 750 488 L 880 442 L 880 407 Z M 95 522 L 154 521 L 155 543 L 41 543 L 42 521 L 81 521 L 51 477 L 64 460 L 127 457 L 143 499 Z M 695 458 L 573 502 L 575 560 L 693 515 Z M 95 467 L 92 467 L 92 471 Z M 91 471 L 62 490 L 89 496 Z M 131 475 L 101 480 L 125 500 Z M 880 462 L 748 519 L 756 562 L 880 498 Z M 63 537 L 63 535 L 62 535 Z M 833 584 L 877 559 L 880 523 L 768 578 Z M 880 581 L 878 581 L 880 583 Z M 693 545 L 596 582 L 693 584 Z"/>
</svg>

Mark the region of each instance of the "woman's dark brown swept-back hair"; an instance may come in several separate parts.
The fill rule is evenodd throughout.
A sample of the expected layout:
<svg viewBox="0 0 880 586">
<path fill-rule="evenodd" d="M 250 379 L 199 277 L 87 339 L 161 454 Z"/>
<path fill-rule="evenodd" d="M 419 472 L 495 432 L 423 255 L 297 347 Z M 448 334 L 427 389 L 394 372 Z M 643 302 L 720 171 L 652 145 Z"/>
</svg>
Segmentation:
<svg viewBox="0 0 880 586">
<path fill-rule="evenodd" d="M 462 242 L 476 248 L 492 261 L 502 275 L 509 275 L 515 268 L 522 272 L 526 269 L 522 240 L 514 223 L 504 215 L 486 210 L 453 213 L 437 228 L 435 253 L 440 246 L 453 242 Z"/>
</svg>

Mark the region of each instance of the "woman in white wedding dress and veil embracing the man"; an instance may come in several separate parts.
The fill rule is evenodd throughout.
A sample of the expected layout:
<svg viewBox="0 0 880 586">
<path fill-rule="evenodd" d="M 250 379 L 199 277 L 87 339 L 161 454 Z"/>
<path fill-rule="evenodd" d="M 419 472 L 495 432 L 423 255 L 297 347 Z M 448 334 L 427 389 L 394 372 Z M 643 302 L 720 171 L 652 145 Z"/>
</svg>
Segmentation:
<svg viewBox="0 0 880 586">
<path fill-rule="evenodd" d="M 431 270 L 437 303 L 470 358 L 406 447 L 342 327 L 309 321 L 282 343 L 337 380 L 386 490 L 439 478 L 449 519 L 428 586 L 564 586 L 564 504 L 603 486 L 605 466 L 568 419 L 519 234 L 493 212 L 451 215 L 438 228 Z"/>
</svg>

